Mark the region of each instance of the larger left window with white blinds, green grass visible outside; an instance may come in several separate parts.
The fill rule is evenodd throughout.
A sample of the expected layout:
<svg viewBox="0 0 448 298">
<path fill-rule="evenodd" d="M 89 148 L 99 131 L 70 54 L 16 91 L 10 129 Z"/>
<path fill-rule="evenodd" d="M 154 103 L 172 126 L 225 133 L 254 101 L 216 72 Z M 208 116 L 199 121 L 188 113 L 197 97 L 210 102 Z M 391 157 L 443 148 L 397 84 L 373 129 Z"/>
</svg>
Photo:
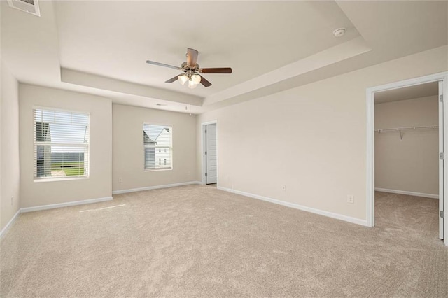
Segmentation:
<svg viewBox="0 0 448 298">
<path fill-rule="evenodd" d="M 34 109 L 34 179 L 89 176 L 89 115 Z"/>
</svg>

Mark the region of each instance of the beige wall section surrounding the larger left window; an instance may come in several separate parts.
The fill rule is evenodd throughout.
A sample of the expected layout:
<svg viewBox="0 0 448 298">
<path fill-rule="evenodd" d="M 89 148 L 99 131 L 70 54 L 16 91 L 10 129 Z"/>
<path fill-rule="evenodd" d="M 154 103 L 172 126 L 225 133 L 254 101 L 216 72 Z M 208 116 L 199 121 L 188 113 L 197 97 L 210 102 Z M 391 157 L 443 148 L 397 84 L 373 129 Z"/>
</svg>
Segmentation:
<svg viewBox="0 0 448 298">
<path fill-rule="evenodd" d="M 88 94 L 20 84 L 21 206 L 41 206 L 111 197 L 112 104 Z M 90 113 L 90 178 L 34 182 L 34 106 Z"/>
</svg>

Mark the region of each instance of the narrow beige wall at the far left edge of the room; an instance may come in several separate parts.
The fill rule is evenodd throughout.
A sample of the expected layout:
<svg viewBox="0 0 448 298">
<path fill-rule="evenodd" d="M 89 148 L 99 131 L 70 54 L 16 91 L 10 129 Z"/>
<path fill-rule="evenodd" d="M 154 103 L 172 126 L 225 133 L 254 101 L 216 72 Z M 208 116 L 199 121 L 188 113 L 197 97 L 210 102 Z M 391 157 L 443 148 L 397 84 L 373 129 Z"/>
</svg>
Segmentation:
<svg viewBox="0 0 448 298">
<path fill-rule="evenodd" d="M 20 208 L 18 82 L 1 62 L 0 231 Z M 14 197 L 11 204 L 11 197 Z"/>
</svg>

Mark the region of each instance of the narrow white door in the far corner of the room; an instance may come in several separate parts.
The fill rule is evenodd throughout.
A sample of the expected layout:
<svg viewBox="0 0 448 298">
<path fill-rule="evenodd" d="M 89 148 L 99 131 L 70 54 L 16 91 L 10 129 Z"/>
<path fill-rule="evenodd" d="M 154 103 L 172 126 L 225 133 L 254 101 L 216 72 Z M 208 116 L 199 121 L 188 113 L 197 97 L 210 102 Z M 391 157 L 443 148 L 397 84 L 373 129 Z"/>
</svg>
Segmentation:
<svg viewBox="0 0 448 298">
<path fill-rule="evenodd" d="M 216 124 L 205 127 L 205 183 L 216 183 Z"/>
</svg>

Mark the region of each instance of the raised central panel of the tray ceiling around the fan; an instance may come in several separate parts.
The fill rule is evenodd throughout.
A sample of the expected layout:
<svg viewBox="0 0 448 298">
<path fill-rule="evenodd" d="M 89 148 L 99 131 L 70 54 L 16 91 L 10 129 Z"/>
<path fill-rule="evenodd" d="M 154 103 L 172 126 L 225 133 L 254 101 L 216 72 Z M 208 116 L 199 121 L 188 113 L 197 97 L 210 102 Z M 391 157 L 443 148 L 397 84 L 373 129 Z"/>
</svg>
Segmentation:
<svg viewBox="0 0 448 298">
<path fill-rule="evenodd" d="M 62 67 L 200 97 L 359 36 L 332 1 L 55 4 Z M 346 36 L 335 38 L 337 27 Z M 187 48 L 200 52 L 200 66 L 233 73 L 204 75 L 213 85 L 190 90 L 164 83 L 179 71 L 145 63 L 181 66 Z"/>
</svg>

